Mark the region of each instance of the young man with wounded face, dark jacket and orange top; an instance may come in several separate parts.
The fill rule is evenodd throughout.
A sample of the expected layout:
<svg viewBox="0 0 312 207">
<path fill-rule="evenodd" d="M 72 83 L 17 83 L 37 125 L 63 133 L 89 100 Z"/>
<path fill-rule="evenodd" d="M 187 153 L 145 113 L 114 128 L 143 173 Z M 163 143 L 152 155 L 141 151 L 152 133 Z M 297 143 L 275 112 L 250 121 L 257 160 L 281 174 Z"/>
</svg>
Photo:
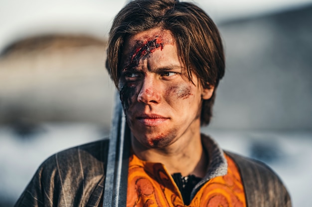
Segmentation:
<svg viewBox="0 0 312 207">
<path fill-rule="evenodd" d="M 218 30 L 176 0 L 135 0 L 115 17 L 107 68 L 131 130 L 129 207 L 290 207 L 264 164 L 224 152 L 200 126 L 224 75 Z M 51 156 L 15 207 L 101 206 L 108 140 Z"/>
</svg>

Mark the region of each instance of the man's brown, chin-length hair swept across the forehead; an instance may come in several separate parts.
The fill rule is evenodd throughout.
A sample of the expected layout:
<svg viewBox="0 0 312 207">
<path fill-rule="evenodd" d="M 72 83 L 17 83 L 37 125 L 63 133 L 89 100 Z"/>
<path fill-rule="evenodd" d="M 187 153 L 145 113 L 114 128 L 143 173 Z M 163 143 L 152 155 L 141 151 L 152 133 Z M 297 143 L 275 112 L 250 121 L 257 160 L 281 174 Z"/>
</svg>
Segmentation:
<svg viewBox="0 0 312 207">
<path fill-rule="evenodd" d="M 134 0 L 116 15 L 109 33 L 106 60 L 115 85 L 118 87 L 125 39 L 155 27 L 171 31 L 189 79 L 193 72 L 204 88 L 216 89 L 225 69 L 219 31 L 201 8 L 178 0 Z M 209 124 L 214 99 L 215 91 L 210 99 L 203 100 L 201 125 Z"/>
</svg>

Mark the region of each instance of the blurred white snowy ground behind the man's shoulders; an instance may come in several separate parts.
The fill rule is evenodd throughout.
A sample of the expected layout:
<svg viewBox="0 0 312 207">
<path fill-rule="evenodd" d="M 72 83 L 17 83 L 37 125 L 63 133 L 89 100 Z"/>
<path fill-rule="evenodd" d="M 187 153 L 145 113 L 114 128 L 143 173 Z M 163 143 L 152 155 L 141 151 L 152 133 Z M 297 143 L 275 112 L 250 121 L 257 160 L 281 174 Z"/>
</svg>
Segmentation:
<svg viewBox="0 0 312 207">
<path fill-rule="evenodd" d="M 219 144 L 266 162 L 286 184 L 294 207 L 309 206 L 312 192 L 312 132 L 225 132 L 202 130 Z M 39 164 L 51 154 L 98 140 L 107 132 L 90 124 L 44 124 L 28 137 L 0 127 L 0 207 L 10 207 Z"/>
</svg>

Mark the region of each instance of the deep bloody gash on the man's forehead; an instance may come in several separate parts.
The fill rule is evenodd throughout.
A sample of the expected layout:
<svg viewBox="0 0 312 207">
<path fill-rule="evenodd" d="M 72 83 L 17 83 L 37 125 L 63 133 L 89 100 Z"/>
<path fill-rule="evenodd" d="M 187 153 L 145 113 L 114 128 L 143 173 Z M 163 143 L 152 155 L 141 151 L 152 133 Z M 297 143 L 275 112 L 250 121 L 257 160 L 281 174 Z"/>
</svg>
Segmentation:
<svg viewBox="0 0 312 207">
<path fill-rule="evenodd" d="M 163 41 L 159 36 L 156 36 L 153 40 L 147 40 L 146 42 L 137 40 L 134 51 L 131 53 L 133 55 L 131 57 L 130 64 L 126 66 L 125 70 L 138 66 L 141 60 L 146 59 L 156 49 L 162 50 L 162 48 Z"/>
</svg>

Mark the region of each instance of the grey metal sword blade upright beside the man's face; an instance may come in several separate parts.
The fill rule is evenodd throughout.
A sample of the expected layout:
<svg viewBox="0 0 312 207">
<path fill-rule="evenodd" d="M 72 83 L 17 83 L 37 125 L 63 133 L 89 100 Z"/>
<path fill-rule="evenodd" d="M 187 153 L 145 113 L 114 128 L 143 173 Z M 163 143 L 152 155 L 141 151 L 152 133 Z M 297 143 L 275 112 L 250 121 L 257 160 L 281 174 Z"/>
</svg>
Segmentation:
<svg viewBox="0 0 312 207">
<path fill-rule="evenodd" d="M 119 99 L 115 94 L 110 143 L 107 159 L 103 207 L 126 207 L 130 129 Z"/>
</svg>

